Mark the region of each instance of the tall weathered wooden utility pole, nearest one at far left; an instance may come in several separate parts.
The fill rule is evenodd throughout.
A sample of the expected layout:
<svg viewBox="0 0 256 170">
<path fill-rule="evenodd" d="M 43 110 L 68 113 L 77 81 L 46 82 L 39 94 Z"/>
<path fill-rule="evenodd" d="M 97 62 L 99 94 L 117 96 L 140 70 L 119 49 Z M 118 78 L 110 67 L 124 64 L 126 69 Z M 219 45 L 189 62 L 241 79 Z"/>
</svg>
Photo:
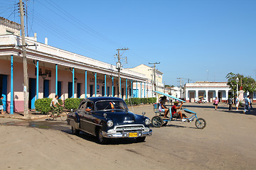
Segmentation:
<svg viewBox="0 0 256 170">
<path fill-rule="evenodd" d="M 24 117 L 28 117 L 28 65 L 26 60 L 26 42 L 24 30 L 24 9 L 23 1 L 19 0 L 19 7 L 21 13 L 21 47 L 23 53 L 23 96 L 24 96 Z"/>
</svg>

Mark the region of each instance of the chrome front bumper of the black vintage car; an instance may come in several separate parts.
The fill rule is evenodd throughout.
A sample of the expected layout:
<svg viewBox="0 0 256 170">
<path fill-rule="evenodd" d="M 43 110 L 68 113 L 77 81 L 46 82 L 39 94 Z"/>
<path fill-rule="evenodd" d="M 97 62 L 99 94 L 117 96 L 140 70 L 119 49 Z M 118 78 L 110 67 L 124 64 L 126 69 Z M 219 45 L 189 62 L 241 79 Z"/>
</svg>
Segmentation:
<svg viewBox="0 0 256 170">
<path fill-rule="evenodd" d="M 132 137 L 146 137 L 152 135 L 152 130 L 149 129 L 149 132 L 143 131 L 134 131 L 134 132 L 102 132 L 103 137 L 106 138 L 127 138 L 130 137 L 130 133 L 137 133 L 137 136 Z"/>
</svg>

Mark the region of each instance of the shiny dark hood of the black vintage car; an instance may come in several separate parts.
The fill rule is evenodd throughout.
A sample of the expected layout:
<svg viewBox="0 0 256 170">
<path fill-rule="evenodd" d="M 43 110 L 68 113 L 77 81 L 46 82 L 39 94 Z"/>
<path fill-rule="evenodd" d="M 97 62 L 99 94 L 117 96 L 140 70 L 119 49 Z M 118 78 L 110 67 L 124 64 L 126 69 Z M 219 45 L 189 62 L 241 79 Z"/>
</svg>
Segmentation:
<svg viewBox="0 0 256 170">
<path fill-rule="evenodd" d="M 111 119 L 114 123 L 114 125 L 126 125 L 126 124 L 134 124 L 144 123 L 144 118 L 142 115 L 136 115 L 132 112 L 120 112 L 120 111 L 107 111 L 104 112 L 107 114 L 107 118 Z M 104 114 L 102 113 L 102 114 Z"/>
</svg>

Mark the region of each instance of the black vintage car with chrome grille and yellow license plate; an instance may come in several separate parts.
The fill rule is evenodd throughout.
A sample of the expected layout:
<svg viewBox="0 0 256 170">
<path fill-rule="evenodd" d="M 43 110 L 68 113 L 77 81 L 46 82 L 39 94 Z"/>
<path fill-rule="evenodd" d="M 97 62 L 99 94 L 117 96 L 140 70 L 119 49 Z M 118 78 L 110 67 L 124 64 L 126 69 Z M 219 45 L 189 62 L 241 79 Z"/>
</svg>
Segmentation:
<svg viewBox="0 0 256 170">
<path fill-rule="evenodd" d="M 143 142 L 150 136 L 150 120 L 143 115 L 130 112 L 121 98 L 92 97 L 82 100 L 77 111 L 68 114 L 68 125 L 72 133 L 80 130 L 95 135 L 100 144 L 109 138 L 135 137 Z"/>
</svg>

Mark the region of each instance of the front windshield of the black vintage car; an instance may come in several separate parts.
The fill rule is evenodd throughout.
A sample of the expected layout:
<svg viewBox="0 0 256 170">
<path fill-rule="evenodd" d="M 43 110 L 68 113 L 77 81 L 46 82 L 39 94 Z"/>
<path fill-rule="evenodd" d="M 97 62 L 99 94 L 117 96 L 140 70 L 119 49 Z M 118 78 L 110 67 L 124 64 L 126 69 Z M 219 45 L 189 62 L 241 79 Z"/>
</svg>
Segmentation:
<svg viewBox="0 0 256 170">
<path fill-rule="evenodd" d="M 126 103 L 121 100 L 107 100 L 107 101 L 97 101 L 96 102 L 96 110 L 97 111 L 113 111 L 113 110 L 124 110 L 128 109 Z"/>
</svg>

